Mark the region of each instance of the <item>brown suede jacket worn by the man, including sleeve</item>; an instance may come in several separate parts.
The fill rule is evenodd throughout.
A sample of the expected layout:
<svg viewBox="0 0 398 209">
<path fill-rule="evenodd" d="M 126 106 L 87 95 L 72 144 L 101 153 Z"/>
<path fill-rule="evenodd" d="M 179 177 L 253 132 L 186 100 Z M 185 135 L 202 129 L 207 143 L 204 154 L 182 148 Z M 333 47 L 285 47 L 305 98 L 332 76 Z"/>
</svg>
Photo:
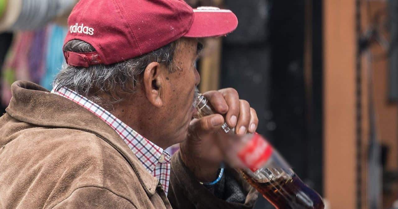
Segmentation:
<svg viewBox="0 0 398 209">
<path fill-rule="evenodd" d="M 172 157 L 168 197 L 121 140 L 80 105 L 26 81 L 0 117 L 0 208 L 251 208 L 215 197 Z M 169 201 L 170 200 L 170 201 Z"/>
</svg>

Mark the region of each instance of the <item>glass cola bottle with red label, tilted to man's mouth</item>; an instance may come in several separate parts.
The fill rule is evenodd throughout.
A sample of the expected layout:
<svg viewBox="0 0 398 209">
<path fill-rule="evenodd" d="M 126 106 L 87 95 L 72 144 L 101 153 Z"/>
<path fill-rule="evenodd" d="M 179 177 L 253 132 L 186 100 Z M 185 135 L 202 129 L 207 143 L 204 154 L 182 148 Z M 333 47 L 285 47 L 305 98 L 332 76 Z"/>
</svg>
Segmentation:
<svg viewBox="0 0 398 209">
<path fill-rule="evenodd" d="M 215 114 L 207 99 L 199 94 L 198 117 Z M 226 163 L 233 165 L 244 179 L 277 209 L 324 209 L 322 197 L 294 173 L 283 157 L 259 134 L 233 134 L 225 123 L 222 134 L 233 143 L 224 148 Z M 239 140 L 236 138 L 239 137 Z M 227 143 L 228 140 L 223 140 Z"/>
</svg>

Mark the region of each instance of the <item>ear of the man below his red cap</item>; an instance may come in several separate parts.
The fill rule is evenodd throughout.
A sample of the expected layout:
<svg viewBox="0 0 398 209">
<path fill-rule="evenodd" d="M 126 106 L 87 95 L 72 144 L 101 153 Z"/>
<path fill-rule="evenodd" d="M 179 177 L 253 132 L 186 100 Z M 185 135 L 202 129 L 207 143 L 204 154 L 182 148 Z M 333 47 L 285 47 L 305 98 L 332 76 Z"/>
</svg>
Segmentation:
<svg viewBox="0 0 398 209">
<path fill-rule="evenodd" d="M 151 62 L 144 71 L 143 85 L 146 98 L 155 107 L 163 106 L 162 94 L 164 91 L 164 78 L 158 62 Z"/>
</svg>

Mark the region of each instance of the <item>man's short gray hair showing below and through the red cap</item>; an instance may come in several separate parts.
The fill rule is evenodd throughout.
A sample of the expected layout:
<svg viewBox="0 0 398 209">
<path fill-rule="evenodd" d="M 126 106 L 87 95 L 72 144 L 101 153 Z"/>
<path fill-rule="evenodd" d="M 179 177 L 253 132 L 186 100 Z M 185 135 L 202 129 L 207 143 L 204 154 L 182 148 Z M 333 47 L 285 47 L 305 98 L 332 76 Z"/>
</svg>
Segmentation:
<svg viewBox="0 0 398 209">
<path fill-rule="evenodd" d="M 121 61 L 111 65 L 90 65 L 89 67 L 75 67 L 64 64 L 55 77 L 53 85 L 56 90 L 62 87 L 70 88 L 101 105 L 111 105 L 121 101 L 117 91 L 135 91 L 135 86 L 142 80 L 146 66 L 151 62 L 166 65 L 169 73 L 174 72 L 173 57 L 177 41 L 172 42 L 158 50 L 144 54 L 140 57 Z M 91 44 L 81 40 L 71 40 L 64 46 L 64 52 L 95 52 Z M 107 93 L 111 100 L 95 96 L 96 92 Z"/>
</svg>

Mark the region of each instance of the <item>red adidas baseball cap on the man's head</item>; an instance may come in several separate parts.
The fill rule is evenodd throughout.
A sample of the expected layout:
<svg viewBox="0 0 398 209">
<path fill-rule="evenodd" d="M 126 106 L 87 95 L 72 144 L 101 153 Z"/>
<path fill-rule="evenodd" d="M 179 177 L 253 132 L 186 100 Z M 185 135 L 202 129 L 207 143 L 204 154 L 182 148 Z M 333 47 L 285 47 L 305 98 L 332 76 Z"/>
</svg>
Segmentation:
<svg viewBox="0 0 398 209">
<path fill-rule="evenodd" d="M 230 10 L 193 9 L 183 0 L 80 0 L 68 25 L 64 44 L 78 39 L 96 52 L 64 52 L 66 63 L 88 67 L 135 58 L 183 36 L 224 36 L 238 19 Z"/>
</svg>

